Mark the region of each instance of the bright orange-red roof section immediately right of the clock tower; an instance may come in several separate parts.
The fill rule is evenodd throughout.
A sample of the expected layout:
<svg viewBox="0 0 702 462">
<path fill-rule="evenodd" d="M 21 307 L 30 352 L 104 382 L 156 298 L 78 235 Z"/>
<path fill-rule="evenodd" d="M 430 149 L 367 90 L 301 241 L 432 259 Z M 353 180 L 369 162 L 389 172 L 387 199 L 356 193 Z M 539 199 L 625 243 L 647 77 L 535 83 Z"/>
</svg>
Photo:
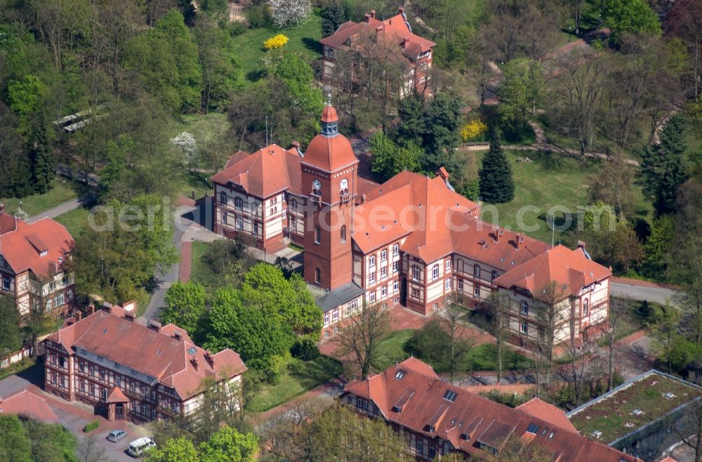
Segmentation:
<svg viewBox="0 0 702 462">
<path fill-rule="evenodd" d="M 449 189 L 441 176 L 403 171 L 361 197 L 352 235 L 364 253 L 406 237 L 402 250 L 425 261 L 453 251 L 451 219 L 479 216 L 480 207 Z"/>
</svg>

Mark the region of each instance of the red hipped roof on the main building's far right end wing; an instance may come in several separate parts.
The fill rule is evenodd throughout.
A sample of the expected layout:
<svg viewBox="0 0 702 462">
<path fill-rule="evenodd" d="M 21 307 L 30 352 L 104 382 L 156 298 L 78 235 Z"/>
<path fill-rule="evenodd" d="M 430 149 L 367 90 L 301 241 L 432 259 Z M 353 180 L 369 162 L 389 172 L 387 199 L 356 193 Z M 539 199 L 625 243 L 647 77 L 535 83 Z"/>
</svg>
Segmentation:
<svg viewBox="0 0 702 462">
<path fill-rule="evenodd" d="M 559 244 L 501 275 L 495 284 L 508 289 L 519 287 L 539 298 L 545 286 L 555 281 L 566 288 L 564 296 L 576 296 L 584 286 L 610 276 L 611 271 L 590 260 L 583 249 L 571 250 Z"/>
</svg>

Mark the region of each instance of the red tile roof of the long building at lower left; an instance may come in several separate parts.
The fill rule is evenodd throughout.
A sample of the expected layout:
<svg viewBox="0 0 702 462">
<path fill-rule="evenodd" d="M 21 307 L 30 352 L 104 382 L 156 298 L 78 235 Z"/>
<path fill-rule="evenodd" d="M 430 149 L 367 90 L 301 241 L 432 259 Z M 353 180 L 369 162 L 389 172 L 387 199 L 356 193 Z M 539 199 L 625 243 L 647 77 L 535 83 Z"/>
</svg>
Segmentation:
<svg viewBox="0 0 702 462">
<path fill-rule="evenodd" d="M 204 378 L 219 378 L 220 372 L 234 377 L 246 371 L 236 352 L 227 348 L 208 355 L 178 326 L 157 329 L 135 324 L 125 319 L 124 310 L 117 306 L 98 310 L 74 324 L 66 323 L 48 338 L 68 352 L 84 348 L 121 367 L 153 376 L 175 388 L 183 400 L 197 395 Z"/>
</svg>

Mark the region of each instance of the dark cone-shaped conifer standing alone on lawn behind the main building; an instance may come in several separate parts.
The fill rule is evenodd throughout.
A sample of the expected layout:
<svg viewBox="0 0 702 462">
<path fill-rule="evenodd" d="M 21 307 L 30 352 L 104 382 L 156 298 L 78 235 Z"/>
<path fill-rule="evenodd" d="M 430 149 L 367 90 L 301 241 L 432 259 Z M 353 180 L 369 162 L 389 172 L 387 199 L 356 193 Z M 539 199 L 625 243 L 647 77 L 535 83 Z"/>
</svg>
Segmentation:
<svg viewBox="0 0 702 462">
<path fill-rule="evenodd" d="M 515 197 L 515 182 L 512 167 L 500 145 L 500 129 L 494 128 L 490 140 L 490 150 L 482 161 L 478 172 L 480 196 L 485 202 L 510 202 Z"/>
</svg>

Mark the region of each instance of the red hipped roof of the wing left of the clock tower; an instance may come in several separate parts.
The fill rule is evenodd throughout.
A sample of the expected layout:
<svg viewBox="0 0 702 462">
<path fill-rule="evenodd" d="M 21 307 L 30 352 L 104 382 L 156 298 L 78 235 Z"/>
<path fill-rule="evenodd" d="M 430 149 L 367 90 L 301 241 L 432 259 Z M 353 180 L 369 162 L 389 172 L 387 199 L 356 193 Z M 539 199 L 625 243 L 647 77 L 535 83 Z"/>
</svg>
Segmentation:
<svg viewBox="0 0 702 462">
<path fill-rule="evenodd" d="M 221 185 L 236 183 L 261 198 L 284 190 L 299 194 L 301 159 L 294 148 L 284 150 L 275 144 L 253 154 L 238 151 L 227 160 L 225 169 L 211 179 Z"/>
</svg>

